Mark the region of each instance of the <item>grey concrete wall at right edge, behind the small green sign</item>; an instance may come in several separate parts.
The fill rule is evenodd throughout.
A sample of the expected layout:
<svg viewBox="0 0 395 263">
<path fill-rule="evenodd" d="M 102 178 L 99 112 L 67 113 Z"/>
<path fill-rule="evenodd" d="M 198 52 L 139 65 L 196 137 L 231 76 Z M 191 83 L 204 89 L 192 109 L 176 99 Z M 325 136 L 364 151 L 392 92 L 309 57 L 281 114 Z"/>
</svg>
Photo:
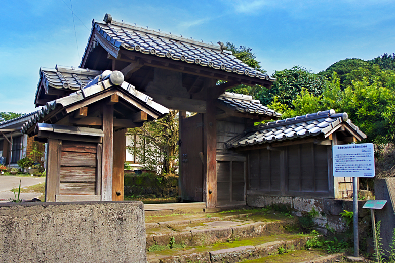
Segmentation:
<svg viewBox="0 0 395 263">
<path fill-rule="evenodd" d="M 384 250 L 390 250 L 389 245 L 395 229 L 395 178 L 376 179 L 374 181 L 376 200 L 387 200 L 381 210 L 375 210 L 376 222 L 381 221 L 381 243 Z"/>
</svg>

